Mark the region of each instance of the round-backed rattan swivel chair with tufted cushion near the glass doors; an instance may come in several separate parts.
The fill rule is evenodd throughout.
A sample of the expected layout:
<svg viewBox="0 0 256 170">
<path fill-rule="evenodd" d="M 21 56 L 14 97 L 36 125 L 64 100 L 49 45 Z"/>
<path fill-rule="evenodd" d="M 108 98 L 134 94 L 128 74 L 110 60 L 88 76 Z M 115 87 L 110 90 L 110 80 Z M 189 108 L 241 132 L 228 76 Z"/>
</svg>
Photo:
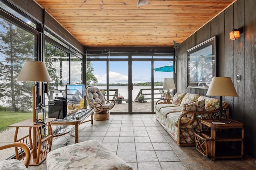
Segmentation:
<svg viewBox="0 0 256 170">
<path fill-rule="evenodd" d="M 108 120 L 109 110 L 115 106 L 116 101 L 106 100 L 100 89 L 94 86 L 85 88 L 85 96 L 89 107 L 94 111 L 94 120 Z"/>
</svg>

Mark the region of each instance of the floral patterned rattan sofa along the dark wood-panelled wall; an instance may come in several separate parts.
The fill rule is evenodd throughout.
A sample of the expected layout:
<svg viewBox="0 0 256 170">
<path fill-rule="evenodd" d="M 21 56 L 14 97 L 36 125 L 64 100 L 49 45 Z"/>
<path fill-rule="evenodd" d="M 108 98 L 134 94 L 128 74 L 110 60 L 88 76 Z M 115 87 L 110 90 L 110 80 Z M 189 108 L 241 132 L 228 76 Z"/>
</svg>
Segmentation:
<svg viewBox="0 0 256 170">
<path fill-rule="evenodd" d="M 223 102 L 229 114 L 229 104 Z M 195 145 L 194 132 L 200 131 L 200 119 L 210 119 L 220 108 L 220 101 L 198 94 L 176 93 L 173 99 L 156 102 L 156 119 L 179 146 Z M 218 114 L 217 114 L 218 115 Z"/>
</svg>

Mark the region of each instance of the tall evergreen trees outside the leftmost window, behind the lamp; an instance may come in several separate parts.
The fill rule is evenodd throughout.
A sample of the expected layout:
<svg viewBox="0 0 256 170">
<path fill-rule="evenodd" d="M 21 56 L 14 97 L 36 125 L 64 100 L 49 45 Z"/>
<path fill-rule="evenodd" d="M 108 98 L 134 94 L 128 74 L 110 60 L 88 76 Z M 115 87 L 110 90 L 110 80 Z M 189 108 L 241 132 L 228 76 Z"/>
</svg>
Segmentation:
<svg viewBox="0 0 256 170">
<path fill-rule="evenodd" d="M 34 35 L 0 18 L 0 101 L 14 111 L 32 106 L 31 83 L 17 82 L 24 61 L 34 59 Z"/>
</svg>

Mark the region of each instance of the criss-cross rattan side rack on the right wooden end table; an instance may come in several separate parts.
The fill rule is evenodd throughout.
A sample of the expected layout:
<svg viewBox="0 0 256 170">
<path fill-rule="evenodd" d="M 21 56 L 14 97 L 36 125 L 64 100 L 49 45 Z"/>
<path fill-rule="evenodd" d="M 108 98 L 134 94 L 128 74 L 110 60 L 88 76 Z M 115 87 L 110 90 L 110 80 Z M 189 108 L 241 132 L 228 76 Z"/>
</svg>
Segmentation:
<svg viewBox="0 0 256 170">
<path fill-rule="evenodd" d="M 200 133 L 195 133 L 196 150 L 204 156 L 211 157 L 211 138 L 202 137 Z"/>
</svg>

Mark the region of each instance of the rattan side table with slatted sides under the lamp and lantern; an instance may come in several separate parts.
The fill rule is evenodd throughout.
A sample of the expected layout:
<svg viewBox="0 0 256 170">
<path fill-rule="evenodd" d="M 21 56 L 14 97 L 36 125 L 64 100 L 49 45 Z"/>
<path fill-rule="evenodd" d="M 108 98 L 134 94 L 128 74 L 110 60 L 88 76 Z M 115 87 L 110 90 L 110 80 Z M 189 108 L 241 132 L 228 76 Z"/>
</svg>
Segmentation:
<svg viewBox="0 0 256 170">
<path fill-rule="evenodd" d="M 46 123 L 44 124 L 35 124 L 33 119 L 27 119 L 15 124 L 12 124 L 8 127 L 16 127 L 15 135 L 14 135 L 14 142 L 21 142 L 29 145 L 31 149 L 31 153 L 33 159 L 30 161 L 30 165 L 39 165 L 42 163 L 43 160 L 46 159 L 46 155 L 48 152 L 51 151 L 52 147 L 52 126 L 51 121 L 56 118 L 46 118 Z M 40 132 L 40 128 L 47 126 L 48 127 L 48 135 L 42 134 Z M 20 127 L 29 127 L 28 135 L 17 139 L 18 130 Z M 31 137 L 31 129 L 33 129 L 33 141 Z M 43 138 L 41 136 L 44 136 Z M 38 139 L 38 145 L 37 145 Z M 19 155 L 18 149 L 15 148 L 16 158 Z M 19 158 L 17 158 L 19 159 Z"/>
</svg>

